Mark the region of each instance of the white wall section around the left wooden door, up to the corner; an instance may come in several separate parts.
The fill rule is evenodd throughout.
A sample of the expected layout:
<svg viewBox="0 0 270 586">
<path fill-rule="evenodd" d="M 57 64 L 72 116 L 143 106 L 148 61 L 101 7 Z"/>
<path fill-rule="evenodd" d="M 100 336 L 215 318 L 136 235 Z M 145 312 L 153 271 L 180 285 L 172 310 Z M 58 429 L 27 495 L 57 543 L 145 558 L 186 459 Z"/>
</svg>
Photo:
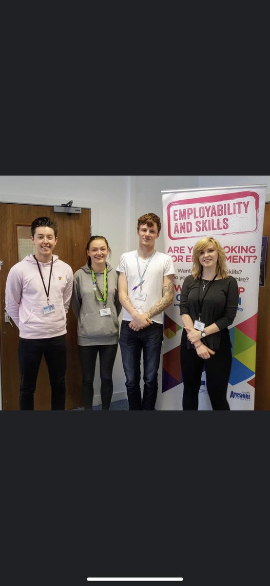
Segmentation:
<svg viewBox="0 0 270 586">
<path fill-rule="evenodd" d="M 111 263 L 117 266 L 120 254 L 129 250 L 130 178 L 117 176 L 0 176 L 0 202 L 91 207 L 92 234 L 106 236 L 112 249 Z M 85 243 L 86 244 L 86 243 Z M 95 399 L 99 403 L 99 361 L 96 363 Z M 113 371 L 115 398 L 126 397 L 120 349 Z"/>
</svg>

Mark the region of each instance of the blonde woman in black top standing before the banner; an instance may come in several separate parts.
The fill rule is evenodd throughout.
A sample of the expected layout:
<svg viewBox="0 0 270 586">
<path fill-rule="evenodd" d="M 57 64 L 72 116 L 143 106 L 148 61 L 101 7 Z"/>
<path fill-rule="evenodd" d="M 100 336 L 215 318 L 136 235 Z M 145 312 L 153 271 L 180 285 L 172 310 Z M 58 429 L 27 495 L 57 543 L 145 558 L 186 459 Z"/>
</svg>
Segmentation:
<svg viewBox="0 0 270 586">
<path fill-rule="evenodd" d="M 198 410 L 203 367 L 213 410 L 230 410 L 226 397 L 232 360 L 228 326 L 236 317 L 238 299 L 237 280 L 228 273 L 219 241 L 208 236 L 198 240 L 192 274 L 185 278 L 180 298 L 183 410 Z"/>
</svg>

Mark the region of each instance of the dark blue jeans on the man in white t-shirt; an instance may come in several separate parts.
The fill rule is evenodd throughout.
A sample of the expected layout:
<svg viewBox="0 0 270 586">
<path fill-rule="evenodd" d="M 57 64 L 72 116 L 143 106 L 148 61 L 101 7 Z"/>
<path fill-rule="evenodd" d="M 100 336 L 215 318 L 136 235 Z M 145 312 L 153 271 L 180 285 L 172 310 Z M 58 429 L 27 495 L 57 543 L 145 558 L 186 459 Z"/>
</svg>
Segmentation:
<svg viewBox="0 0 270 586">
<path fill-rule="evenodd" d="M 153 322 L 150 326 L 134 332 L 128 321 L 122 321 L 120 329 L 120 349 L 126 390 L 130 410 L 154 410 L 158 391 L 158 367 L 163 340 L 162 323 Z M 143 350 L 143 400 L 141 400 L 141 350 Z"/>
</svg>

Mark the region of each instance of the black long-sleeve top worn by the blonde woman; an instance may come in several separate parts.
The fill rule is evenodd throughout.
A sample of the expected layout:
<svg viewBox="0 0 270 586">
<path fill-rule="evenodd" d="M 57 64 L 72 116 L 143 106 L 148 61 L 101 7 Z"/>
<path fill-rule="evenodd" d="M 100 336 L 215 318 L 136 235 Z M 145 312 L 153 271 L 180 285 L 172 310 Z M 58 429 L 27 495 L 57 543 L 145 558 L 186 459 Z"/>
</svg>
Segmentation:
<svg viewBox="0 0 270 586">
<path fill-rule="evenodd" d="M 200 279 L 194 279 L 192 275 L 185 278 L 180 296 L 180 315 L 190 315 L 192 321 L 199 319 L 205 323 L 205 327 L 216 323 L 219 330 L 228 328 L 236 317 L 239 293 L 237 280 L 231 275 L 227 279 L 214 280 L 206 285 L 203 291 Z M 203 298 L 202 311 L 200 312 L 200 299 Z M 221 332 L 210 334 L 204 338 L 206 345 L 212 350 L 218 350 Z M 189 342 L 188 348 L 194 347 Z"/>
</svg>

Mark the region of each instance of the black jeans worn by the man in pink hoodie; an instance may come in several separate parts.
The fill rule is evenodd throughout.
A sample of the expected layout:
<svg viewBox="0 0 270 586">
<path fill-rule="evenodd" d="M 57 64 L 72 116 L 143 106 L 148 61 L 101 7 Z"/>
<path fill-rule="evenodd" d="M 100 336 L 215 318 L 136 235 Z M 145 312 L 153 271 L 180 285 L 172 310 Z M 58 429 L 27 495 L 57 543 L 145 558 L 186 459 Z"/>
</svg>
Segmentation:
<svg viewBox="0 0 270 586">
<path fill-rule="evenodd" d="M 67 334 L 55 338 L 19 338 L 20 410 L 33 410 L 34 391 L 42 355 L 47 363 L 51 385 L 51 409 L 65 408 Z"/>
</svg>

